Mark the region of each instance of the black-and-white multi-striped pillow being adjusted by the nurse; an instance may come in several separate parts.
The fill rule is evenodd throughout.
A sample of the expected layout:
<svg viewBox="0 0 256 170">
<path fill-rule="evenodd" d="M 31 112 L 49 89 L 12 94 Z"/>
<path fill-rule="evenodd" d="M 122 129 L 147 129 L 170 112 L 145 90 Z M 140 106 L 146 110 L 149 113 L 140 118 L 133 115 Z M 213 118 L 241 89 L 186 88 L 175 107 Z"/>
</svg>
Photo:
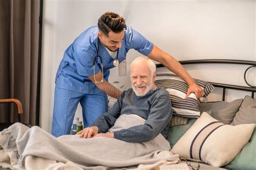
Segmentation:
<svg viewBox="0 0 256 170">
<path fill-rule="evenodd" d="M 202 80 L 194 79 L 194 81 L 204 90 L 204 97 L 197 100 L 194 93 L 191 93 L 186 100 L 188 85 L 173 74 L 157 74 L 156 86 L 163 87 L 170 93 L 170 99 L 173 108 L 173 114 L 186 118 L 200 117 L 199 104 L 214 89 L 214 87 Z"/>
</svg>

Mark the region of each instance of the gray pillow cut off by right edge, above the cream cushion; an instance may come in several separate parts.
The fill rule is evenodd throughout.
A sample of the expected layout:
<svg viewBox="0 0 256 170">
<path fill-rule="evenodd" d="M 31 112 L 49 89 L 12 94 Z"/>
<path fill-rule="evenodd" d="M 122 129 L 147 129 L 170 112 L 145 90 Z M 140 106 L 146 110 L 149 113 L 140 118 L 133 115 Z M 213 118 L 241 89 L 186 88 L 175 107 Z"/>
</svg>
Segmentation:
<svg viewBox="0 0 256 170">
<path fill-rule="evenodd" d="M 256 99 L 246 96 L 231 125 L 252 124 L 256 121 Z"/>
</svg>

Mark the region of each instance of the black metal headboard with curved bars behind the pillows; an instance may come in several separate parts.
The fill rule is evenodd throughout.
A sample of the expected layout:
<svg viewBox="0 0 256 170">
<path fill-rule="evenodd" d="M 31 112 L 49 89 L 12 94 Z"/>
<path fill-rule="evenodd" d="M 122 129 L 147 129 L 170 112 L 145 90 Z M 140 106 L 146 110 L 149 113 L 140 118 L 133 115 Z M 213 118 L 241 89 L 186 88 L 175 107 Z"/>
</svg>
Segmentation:
<svg viewBox="0 0 256 170">
<path fill-rule="evenodd" d="M 179 61 L 182 65 L 187 64 L 242 64 L 242 65 L 250 65 L 244 73 L 244 80 L 245 83 L 249 86 L 238 86 L 238 85 L 231 85 L 231 84 L 221 84 L 221 83 L 214 83 L 214 82 L 208 82 L 211 83 L 215 87 L 221 87 L 223 88 L 223 101 L 225 100 L 225 92 L 226 89 L 235 89 L 235 90 L 242 90 L 242 91 L 250 91 L 252 92 L 251 96 L 254 98 L 254 93 L 256 92 L 256 86 L 253 86 L 248 83 L 246 80 L 246 72 L 251 69 L 252 67 L 256 67 L 255 61 L 250 60 L 230 60 L 230 59 L 201 59 L 201 60 L 183 60 Z M 165 67 L 163 64 L 157 64 L 157 68 L 159 67 Z M 163 75 L 163 74 L 162 74 Z"/>
</svg>

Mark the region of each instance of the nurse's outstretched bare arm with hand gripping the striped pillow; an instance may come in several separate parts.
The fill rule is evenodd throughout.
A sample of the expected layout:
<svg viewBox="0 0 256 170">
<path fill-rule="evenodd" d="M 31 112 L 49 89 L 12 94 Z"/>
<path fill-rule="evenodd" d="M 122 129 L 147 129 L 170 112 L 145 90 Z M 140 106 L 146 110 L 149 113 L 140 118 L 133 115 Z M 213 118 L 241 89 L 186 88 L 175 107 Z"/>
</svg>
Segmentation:
<svg viewBox="0 0 256 170">
<path fill-rule="evenodd" d="M 197 98 L 203 96 L 203 90 L 194 82 L 185 68 L 172 56 L 160 50 L 156 45 L 154 45 L 152 51 L 149 53 L 149 55 L 147 55 L 147 57 L 163 64 L 174 74 L 177 74 L 180 78 L 186 81 L 188 84 L 188 90 L 185 98 L 187 98 L 192 92 L 196 94 Z"/>
</svg>

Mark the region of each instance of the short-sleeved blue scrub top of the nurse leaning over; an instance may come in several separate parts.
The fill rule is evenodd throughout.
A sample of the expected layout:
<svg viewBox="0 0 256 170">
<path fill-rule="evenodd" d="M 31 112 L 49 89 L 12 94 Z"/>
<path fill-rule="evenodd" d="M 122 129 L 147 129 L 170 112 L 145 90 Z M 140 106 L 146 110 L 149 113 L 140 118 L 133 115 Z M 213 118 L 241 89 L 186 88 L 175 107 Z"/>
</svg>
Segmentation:
<svg viewBox="0 0 256 170">
<path fill-rule="evenodd" d="M 56 87 L 79 93 L 104 94 L 88 78 L 93 75 L 93 60 L 97 55 L 98 27 L 92 26 L 79 35 L 66 49 L 56 74 Z M 119 49 L 118 61 L 126 58 L 126 53 L 134 49 L 147 56 L 153 49 L 153 44 L 127 25 L 122 47 Z M 99 56 L 102 57 L 104 79 L 108 80 L 110 69 L 114 67 L 113 58 L 99 42 Z M 95 74 L 100 71 L 101 62 L 97 57 Z"/>
</svg>

